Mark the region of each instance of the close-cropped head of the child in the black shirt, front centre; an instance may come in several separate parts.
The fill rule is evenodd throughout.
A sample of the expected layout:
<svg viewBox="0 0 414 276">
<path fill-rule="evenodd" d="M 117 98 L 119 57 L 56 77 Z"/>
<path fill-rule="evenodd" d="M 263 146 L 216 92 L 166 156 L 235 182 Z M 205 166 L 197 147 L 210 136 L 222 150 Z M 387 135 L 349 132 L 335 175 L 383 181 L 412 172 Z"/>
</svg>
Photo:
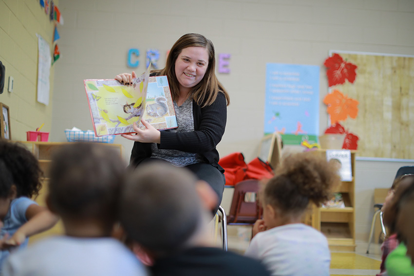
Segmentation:
<svg viewBox="0 0 414 276">
<path fill-rule="evenodd" d="M 130 238 L 154 257 L 189 246 L 206 212 L 196 184 L 184 168 L 155 162 L 138 166 L 120 201 L 121 223 Z"/>
</svg>

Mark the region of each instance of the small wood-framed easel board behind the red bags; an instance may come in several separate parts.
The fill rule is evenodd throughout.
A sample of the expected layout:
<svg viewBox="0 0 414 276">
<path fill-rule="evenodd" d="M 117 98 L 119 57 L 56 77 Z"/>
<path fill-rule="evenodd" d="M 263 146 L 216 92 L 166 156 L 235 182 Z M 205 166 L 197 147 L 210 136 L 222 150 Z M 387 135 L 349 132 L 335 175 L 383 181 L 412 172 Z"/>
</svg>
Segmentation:
<svg viewBox="0 0 414 276">
<path fill-rule="evenodd" d="M 278 166 L 282 159 L 282 138 L 279 133 L 267 134 L 262 138 L 258 157 L 268 161 L 274 169 Z"/>
</svg>

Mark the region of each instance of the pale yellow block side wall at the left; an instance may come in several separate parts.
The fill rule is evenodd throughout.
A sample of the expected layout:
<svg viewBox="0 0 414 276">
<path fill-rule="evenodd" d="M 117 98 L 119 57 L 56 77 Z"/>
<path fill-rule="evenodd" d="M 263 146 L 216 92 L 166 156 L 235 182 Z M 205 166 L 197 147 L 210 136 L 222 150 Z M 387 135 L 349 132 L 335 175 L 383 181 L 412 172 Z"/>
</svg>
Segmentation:
<svg viewBox="0 0 414 276">
<path fill-rule="evenodd" d="M 56 5 L 58 0 L 54 1 Z M 54 72 L 50 72 L 50 102 L 37 101 L 38 38 L 49 42 L 52 51 L 54 23 L 39 1 L 0 0 L 0 60 L 6 67 L 6 81 L 0 102 L 9 107 L 13 140 L 26 140 L 26 131 L 52 129 Z M 51 52 L 53 53 L 53 52 Z M 13 92 L 7 92 L 9 76 L 14 78 Z"/>
</svg>

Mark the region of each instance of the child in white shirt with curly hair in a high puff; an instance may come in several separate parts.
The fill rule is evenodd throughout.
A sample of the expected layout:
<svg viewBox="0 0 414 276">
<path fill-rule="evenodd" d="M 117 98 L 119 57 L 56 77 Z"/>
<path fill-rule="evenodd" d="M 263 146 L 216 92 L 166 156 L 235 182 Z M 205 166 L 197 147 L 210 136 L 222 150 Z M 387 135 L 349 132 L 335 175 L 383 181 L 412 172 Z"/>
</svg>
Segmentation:
<svg viewBox="0 0 414 276">
<path fill-rule="evenodd" d="M 327 239 L 301 217 L 310 202 L 326 202 L 339 183 L 337 166 L 323 156 L 286 157 L 262 191 L 263 220 L 256 221 L 245 255 L 261 259 L 272 275 L 329 276 Z"/>
</svg>

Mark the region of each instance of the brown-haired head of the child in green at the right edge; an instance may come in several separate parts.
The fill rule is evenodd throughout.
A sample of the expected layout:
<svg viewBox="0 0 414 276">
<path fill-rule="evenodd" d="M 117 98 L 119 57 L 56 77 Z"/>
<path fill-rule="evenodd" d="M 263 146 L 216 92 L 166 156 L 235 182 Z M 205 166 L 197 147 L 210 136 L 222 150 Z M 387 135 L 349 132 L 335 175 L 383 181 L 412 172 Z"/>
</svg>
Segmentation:
<svg viewBox="0 0 414 276">
<path fill-rule="evenodd" d="M 407 255 L 411 257 L 414 264 L 414 181 L 407 188 L 398 202 L 398 212 L 396 216 L 396 231 L 399 239 L 407 246 Z"/>
</svg>

